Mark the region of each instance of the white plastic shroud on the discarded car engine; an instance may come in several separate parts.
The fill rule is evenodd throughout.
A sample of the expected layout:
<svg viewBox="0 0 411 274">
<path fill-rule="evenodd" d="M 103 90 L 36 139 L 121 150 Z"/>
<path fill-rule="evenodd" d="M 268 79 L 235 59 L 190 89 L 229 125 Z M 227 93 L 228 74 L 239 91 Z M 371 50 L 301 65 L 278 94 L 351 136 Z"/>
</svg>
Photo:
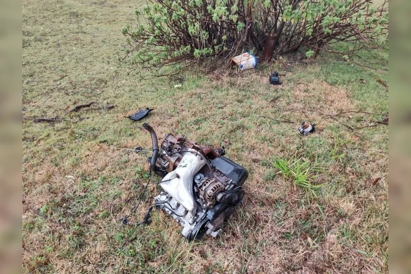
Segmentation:
<svg viewBox="0 0 411 274">
<path fill-rule="evenodd" d="M 177 200 L 190 213 L 195 213 L 196 204 L 192 193 L 192 182 L 194 175 L 205 165 L 205 161 L 200 157 L 197 151 L 189 149 L 191 152 L 185 152 L 180 163 L 170 173 L 164 176 L 160 183 L 161 187 Z"/>
</svg>

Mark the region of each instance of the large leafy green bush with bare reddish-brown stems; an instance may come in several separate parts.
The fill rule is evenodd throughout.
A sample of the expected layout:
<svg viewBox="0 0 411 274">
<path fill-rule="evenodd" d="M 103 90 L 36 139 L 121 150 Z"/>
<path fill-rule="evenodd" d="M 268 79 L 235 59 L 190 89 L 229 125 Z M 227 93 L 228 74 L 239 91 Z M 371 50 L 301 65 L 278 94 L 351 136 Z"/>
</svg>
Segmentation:
<svg viewBox="0 0 411 274">
<path fill-rule="evenodd" d="M 388 36 L 387 0 L 158 0 L 135 13 L 136 26 L 123 29 L 126 54 L 154 70 L 215 69 L 245 51 L 260 56 L 266 33 L 278 34 L 275 56 L 309 58 L 321 51 L 348 58 L 384 47 Z M 347 50 L 333 48 L 341 42 Z"/>
</svg>

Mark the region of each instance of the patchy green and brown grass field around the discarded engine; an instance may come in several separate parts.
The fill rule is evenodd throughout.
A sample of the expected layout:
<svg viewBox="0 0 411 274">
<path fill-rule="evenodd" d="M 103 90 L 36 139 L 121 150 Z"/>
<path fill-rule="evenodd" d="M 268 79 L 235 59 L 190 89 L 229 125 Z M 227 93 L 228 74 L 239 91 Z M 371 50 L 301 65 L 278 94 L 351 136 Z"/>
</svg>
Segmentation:
<svg viewBox="0 0 411 274">
<path fill-rule="evenodd" d="M 387 89 L 375 80 L 387 82 L 387 61 L 373 70 L 322 56 L 240 75 L 143 80 L 147 72 L 118 61 L 121 29 L 138 5 L 23 1 L 22 115 L 64 120 L 23 120 L 23 271 L 386 273 L 388 127 L 365 126 L 388 112 Z M 281 86 L 267 83 L 274 70 Z M 90 101 L 115 108 L 66 114 Z M 159 138 L 223 145 L 249 171 L 244 203 L 221 238 L 188 243 L 158 211 L 148 226 L 121 225 L 148 164 L 113 147 L 151 149 L 141 123 L 124 118 L 145 107 L 155 108 L 144 122 Z M 329 116 L 347 111 L 372 114 Z M 314 134 L 299 134 L 304 120 L 317 123 Z M 158 191 L 149 187 L 130 222 Z"/>
</svg>

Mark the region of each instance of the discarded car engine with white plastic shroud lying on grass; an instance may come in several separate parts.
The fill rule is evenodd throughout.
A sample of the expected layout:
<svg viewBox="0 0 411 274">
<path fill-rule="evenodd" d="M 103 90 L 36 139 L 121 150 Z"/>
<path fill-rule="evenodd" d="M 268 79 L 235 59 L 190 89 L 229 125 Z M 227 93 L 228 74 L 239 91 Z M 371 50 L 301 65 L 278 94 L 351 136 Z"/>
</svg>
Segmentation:
<svg viewBox="0 0 411 274">
<path fill-rule="evenodd" d="M 177 220 L 188 240 L 216 237 L 244 197 L 248 172 L 224 157 L 224 148 L 197 145 L 184 136 L 167 134 L 159 148 L 154 129 L 143 127 L 153 142 L 150 169 L 162 178 L 154 206 Z"/>
</svg>

